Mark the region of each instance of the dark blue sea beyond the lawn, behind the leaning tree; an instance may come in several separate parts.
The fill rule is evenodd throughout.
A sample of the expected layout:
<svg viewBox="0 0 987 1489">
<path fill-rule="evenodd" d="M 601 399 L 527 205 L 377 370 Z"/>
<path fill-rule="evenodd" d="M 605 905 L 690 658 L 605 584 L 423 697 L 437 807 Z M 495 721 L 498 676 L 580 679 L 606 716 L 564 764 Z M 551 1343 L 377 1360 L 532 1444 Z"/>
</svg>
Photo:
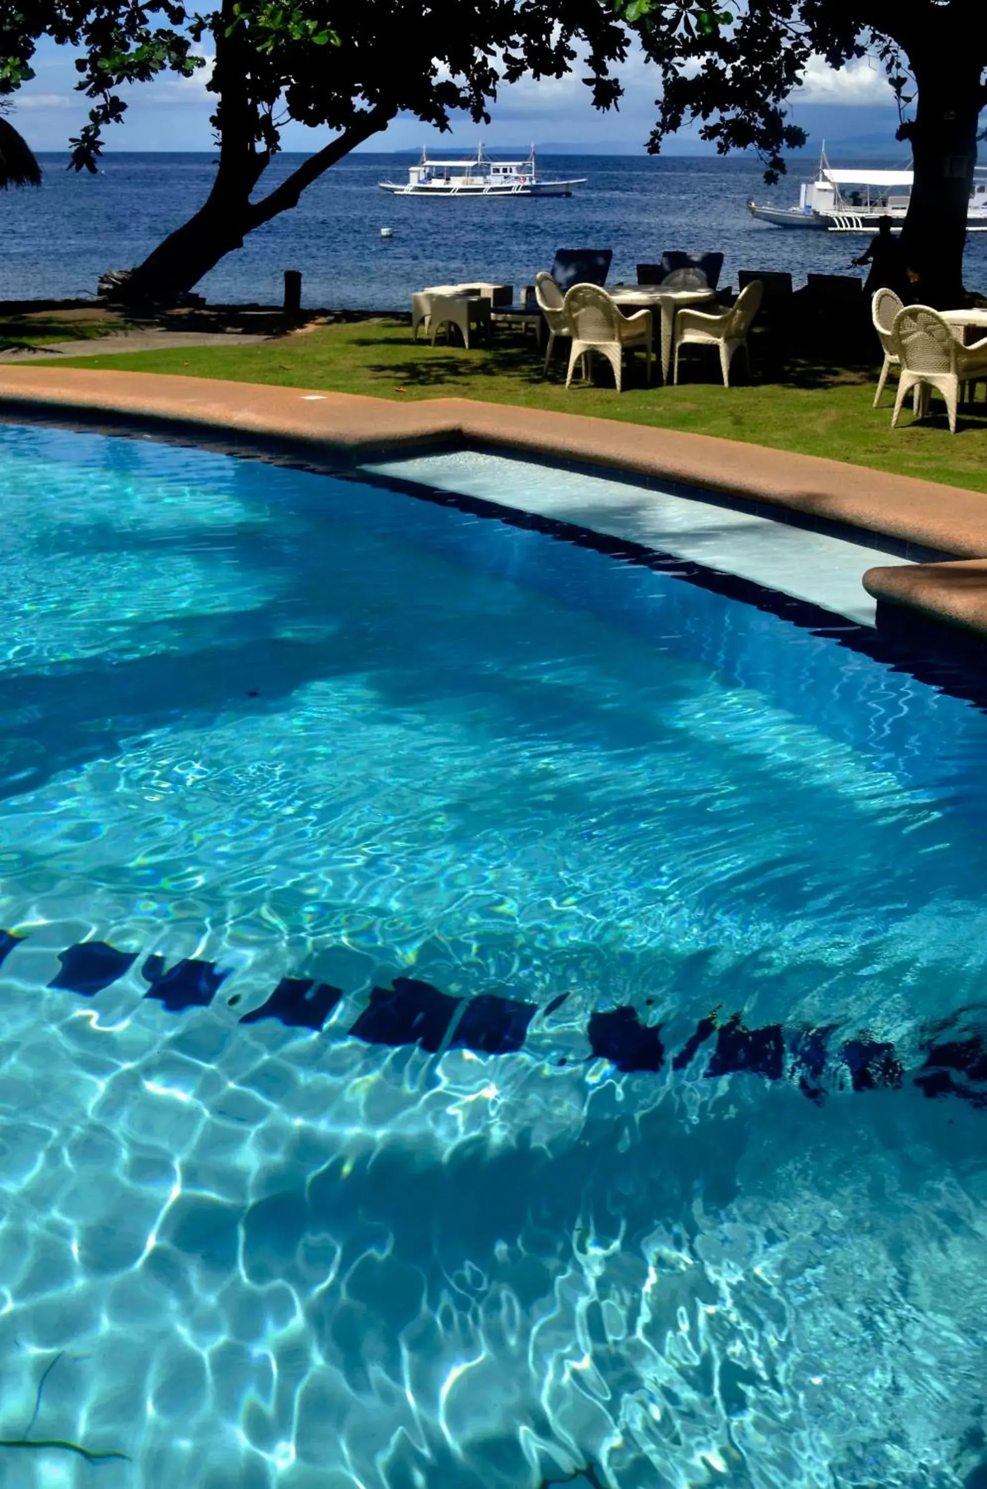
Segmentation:
<svg viewBox="0 0 987 1489">
<path fill-rule="evenodd" d="M 266 185 L 302 156 L 283 155 Z M 811 161 L 793 162 L 768 192 L 755 159 L 685 156 L 543 156 L 555 176 L 587 176 L 572 198 L 429 203 L 378 191 L 405 180 L 408 155 L 354 155 L 286 213 L 252 234 L 199 289 L 210 301 L 280 302 L 283 271 L 301 270 L 304 304 L 403 308 L 414 289 L 460 278 L 530 284 L 557 247 L 613 249 L 613 280 L 634 280 L 639 261 L 664 249 L 722 249 L 729 283 L 740 268 L 840 272 L 865 238 L 792 232 L 755 222 L 750 197 L 789 203 Z M 94 295 L 109 268 L 125 268 L 177 228 L 204 200 L 211 153 L 107 155 L 100 176 L 64 170 L 64 155 L 42 156 L 37 192 L 9 195 L 0 217 L 0 298 Z M 834 162 L 837 164 L 837 162 Z M 844 164 L 844 162 L 838 162 Z M 395 176 L 396 173 L 396 176 Z M 383 240 L 380 229 L 393 237 Z M 987 234 L 968 249 L 968 283 L 987 289 Z"/>
</svg>

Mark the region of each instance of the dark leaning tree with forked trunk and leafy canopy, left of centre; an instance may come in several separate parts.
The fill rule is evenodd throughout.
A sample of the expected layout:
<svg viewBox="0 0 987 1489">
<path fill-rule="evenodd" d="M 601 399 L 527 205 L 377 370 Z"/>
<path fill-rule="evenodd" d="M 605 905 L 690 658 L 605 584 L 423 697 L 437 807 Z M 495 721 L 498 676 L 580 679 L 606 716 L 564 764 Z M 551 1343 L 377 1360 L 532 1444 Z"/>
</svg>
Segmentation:
<svg viewBox="0 0 987 1489">
<path fill-rule="evenodd" d="M 298 0 L 292 10 L 223 0 L 192 30 L 214 51 L 216 179 L 205 203 L 132 271 L 125 293 L 135 299 L 191 289 L 400 112 L 439 130 L 454 110 L 488 122 L 502 82 L 560 77 L 578 46 L 592 101 L 609 107 L 619 95 L 609 64 L 628 43 L 598 0 Z M 289 121 L 330 138 L 258 200 Z"/>
</svg>

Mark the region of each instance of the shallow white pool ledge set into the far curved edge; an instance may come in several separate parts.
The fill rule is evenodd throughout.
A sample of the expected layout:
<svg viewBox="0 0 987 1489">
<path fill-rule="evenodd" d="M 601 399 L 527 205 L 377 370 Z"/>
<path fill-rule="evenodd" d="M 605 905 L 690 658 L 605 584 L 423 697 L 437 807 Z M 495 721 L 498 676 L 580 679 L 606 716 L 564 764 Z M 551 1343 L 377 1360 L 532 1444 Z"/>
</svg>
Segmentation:
<svg viewBox="0 0 987 1489">
<path fill-rule="evenodd" d="M 366 463 L 365 471 L 420 482 L 590 529 L 674 558 L 737 575 L 860 625 L 875 624 L 865 570 L 908 563 L 886 548 L 850 542 L 792 523 L 540 462 L 476 450 L 412 454 Z"/>
</svg>

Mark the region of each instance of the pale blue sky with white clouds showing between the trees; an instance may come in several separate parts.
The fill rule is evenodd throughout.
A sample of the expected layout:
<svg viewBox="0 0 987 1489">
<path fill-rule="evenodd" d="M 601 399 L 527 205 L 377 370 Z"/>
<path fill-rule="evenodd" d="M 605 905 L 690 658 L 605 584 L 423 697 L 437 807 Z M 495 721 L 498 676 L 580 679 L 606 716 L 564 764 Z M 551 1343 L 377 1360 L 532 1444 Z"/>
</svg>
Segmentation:
<svg viewBox="0 0 987 1489">
<path fill-rule="evenodd" d="M 51 43 L 39 48 L 36 79 L 15 98 L 13 122 L 36 150 L 61 150 L 68 135 L 85 122 L 86 100 L 74 92 L 76 71 L 71 55 Z M 208 150 L 213 146 L 208 125 L 210 94 L 204 71 L 194 79 L 162 79 L 127 92 L 128 112 L 122 127 L 107 131 L 107 149 L 125 150 Z M 578 76 L 534 83 L 524 80 L 505 88 L 494 104 L 493 124 L 478 130 L 470 119 L 457 121 L 444 144 L 470 147 L 484 138 L 491 149 L 514 149 L 536 143 L 563 143 L 613 153 L 643 150 L 654 121 L 655 71 L 640 57 L 631 57 L 621 70 L 625 97 L 618 113 L 598 115 L 590 104 L 588 89 Z M 811 133 L 816 147 L 823 137 L 838 141 L 849 137 L 887 134 L 889 155 L 901 153 L 893 134 L 898 124 L 892 92 L 880 68 L 868 60 L 835 73 L 813 61 L 807 83 L 792 100 L 793 119 Z M 310 150 L 325 135 L 289 125 L 284 149 Z M 386 134 L 368 144 L 375 150 L 435 146 L 436 131 L 417 119 L 399 118 Z M 694 133 L 677 135 L 667 153 L 709 152 Z"/>
</svg>

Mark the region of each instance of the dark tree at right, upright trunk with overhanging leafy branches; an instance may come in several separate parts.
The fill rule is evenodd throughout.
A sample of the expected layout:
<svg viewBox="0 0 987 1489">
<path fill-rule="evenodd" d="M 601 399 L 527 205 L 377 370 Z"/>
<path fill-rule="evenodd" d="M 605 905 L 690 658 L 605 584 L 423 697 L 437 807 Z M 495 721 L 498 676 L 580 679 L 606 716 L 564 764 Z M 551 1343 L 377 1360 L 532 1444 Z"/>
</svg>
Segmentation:
<svg viewBox="0 0 987 1489">
<path fill-rule="evenodd" d="M 805 143 L 786 100 L 813 55 L 832 67 L 872 55 L 899 103 L 914 186 L 904 228 L 923 299 L 956 304 L 963 289 L 966 211 L 987 106 L 984 0 L 615 0 L 658 66 L 651 149 L 688 119 L 721 152 L 756 149 L 768 179 Z M 908 110 L 914 104 L 914 116 Z"/>
</svg>

